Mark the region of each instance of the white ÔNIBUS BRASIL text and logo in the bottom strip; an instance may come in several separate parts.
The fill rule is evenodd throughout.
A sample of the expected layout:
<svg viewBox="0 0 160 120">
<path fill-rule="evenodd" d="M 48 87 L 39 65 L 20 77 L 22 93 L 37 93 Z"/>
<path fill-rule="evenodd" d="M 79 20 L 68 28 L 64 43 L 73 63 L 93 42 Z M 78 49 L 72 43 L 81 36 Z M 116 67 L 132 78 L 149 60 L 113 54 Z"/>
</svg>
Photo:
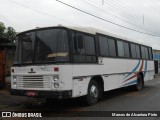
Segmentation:
<svg viewBox="0 0 160 120">
<path fill-rule="evenodd" d="M 31 112 L 2 112 L 2 117 L 42 117 L 42 114 Z"/>
</svg>

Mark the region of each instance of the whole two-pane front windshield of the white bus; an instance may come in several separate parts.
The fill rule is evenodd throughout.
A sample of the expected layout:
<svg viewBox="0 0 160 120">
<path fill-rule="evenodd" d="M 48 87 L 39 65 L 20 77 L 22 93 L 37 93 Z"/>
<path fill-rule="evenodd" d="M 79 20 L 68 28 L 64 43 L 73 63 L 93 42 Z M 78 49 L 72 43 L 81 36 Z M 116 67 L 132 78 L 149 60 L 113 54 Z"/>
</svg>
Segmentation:
<svg viewBox="0 0 160 120">
<path fill-rule="evenodd" d="M 15 64 L 68 61 L 67 31 L 52 28 L 19 34 L 15 58 Z"/>
</svg>

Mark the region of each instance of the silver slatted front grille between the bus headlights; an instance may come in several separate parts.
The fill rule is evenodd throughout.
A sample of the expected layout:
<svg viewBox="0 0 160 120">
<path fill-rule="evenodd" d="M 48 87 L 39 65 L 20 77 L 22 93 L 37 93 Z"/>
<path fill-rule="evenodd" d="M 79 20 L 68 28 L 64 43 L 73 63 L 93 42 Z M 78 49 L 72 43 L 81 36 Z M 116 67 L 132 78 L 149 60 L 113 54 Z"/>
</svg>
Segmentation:
<svg viewBox="0 0 160 120">
<path fill-rule="evenodd" d="M 50 88 L 50 79 L 45 79 L 44 76 L 18 76 L 17 88 Z"/>
</svg>

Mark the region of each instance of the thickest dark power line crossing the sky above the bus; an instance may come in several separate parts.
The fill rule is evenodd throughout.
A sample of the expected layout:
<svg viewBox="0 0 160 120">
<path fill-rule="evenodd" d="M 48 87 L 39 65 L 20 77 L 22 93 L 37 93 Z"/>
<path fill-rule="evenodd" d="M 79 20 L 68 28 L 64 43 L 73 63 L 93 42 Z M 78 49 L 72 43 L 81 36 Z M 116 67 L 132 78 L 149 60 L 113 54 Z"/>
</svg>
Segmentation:
<svg viewBox="0 0 160 120">
<path fill-rule="evenodd" d="M 60 1 L 60 0 L 56 0 L 56 1 L 59 2 L 59 3 L 62 3 L 63 5 L 68 6 L 68 7 L 70 7 L 70 8 L 76 9 L 76 10 L 78 10 L 78 11 L 80 11 L 80 12 L 83 12 L 83 13 L 85 13 L 85 14 L 88 14 L 88 15 L 90 15 L 90 16 L 92 16 L 92 17 L 97 18 L 97 19 L 106 21 L 106 22 L 108 22 L 108 23 L 114 24 L 114 25 L 116 25 L 116 26 L 119 26 L 119 27 L 122 27 L 122 28 L 125 28 L 125 29 L 128 29 L 128 30 L 131 30 L 131 31 L 135 31 L 135 32 L 138 32 L 138 33 L 142 33 L 142 34 L 160 37 L 160 36 L 158 36 L 158 35 L 141 32 L 141 31 L 138 31 L 138 30 L 135 30 L 135 29 L 132 29 L 132 28 L 129 28 L 129 27 L 126 27 L 126 26 L 123 26 L 123 25 L 114 23 L 114 22 L 112 22 L 112 21 L 106 20 L 106 19 L 104 19 L 104 18 L 98 17 L 98 16 L 96 16 L 96 15 L 94 15 L 94 14 L 91 14 L 91 13 L 89 13 L 89 12 L 86 12 L 86 11 L 84 11 L 84 10 L 81 10 L 81 9 L 79 9 L 79 8 L 77 8 L 77 7 L 72 6 L 72 5 L 69 5 L 69 4 L 67 4 L 67 3 L 64 3 L 64 2 L 62 2 L 62 1 Z"/>
</svg>

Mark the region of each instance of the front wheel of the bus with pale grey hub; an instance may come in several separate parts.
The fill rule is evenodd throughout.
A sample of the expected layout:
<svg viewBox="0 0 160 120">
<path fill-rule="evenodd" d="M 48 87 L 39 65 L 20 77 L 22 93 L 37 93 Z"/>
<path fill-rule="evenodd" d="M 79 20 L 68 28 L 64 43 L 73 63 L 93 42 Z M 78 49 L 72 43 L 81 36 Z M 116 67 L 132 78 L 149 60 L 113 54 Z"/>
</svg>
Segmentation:
<svg viewBox="0 0 160 120">
<path fill-rule="evenodd" d="M 99 98 L 99 87 L 95 80 L 91 80 L 88 86 L 88 92 L 86 95 L 87 105 L 94 105 L 97 103 Z"/>
</svg>

